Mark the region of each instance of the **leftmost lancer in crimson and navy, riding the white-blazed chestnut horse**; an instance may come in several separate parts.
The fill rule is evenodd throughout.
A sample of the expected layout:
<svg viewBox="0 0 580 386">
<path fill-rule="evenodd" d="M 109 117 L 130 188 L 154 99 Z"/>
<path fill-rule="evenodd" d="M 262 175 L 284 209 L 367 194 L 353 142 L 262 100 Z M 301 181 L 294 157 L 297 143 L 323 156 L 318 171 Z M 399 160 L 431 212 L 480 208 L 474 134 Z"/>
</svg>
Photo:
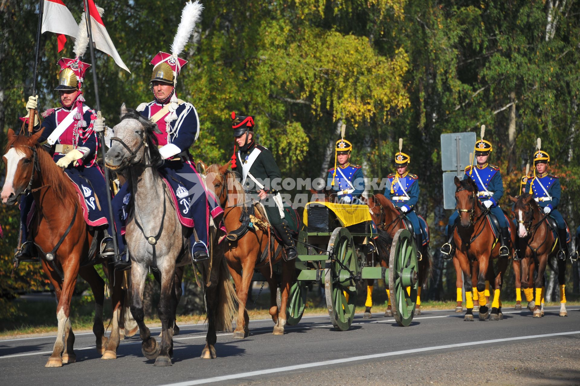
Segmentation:
<svg viewBox="0 0 580 386">
<path fill-rule="evenodd" d="M 86 223 L 97 230 L 95 237 L 100 237 L 100 257 L 113 257 L 111 222 L 107 210 L 107 192 L 103 172 L 97 164 L 100 139 L 97 131 L 104 127 L 104 120 L 97 112 L 86 106 L 82 92 L 82 82 L 90 64 L 81 61 L 86 46 L 75 45 L 74 59 L 63 57 L 59 60 L 59 85 L 61 107 L 46 110 L 42 113 L 42 124 L 34 117 L 34 131 L 44 128 L 40 142 L 46 141 L 44 148 L 52 154 L 56 164 L 74 183 L 79 197 L 84 200 L 79 204 Z M 27 110 L 37 109 L 38 96 L 30 96 L 26 103 Z M 27 122 L 28 118 L 20 118 Z M 82 200 L 82 199 L 81 199 Z M 28 232 L 27 220 L 34 199 L 32 194 L 23 196 L 20 201 L 20 219 L 22 229 L 22 248 L 14 256 L 17 260 L 35 259 L 37 251 Z M 97 236 L 99 235 L 99 236 Z"/>
</svg>

